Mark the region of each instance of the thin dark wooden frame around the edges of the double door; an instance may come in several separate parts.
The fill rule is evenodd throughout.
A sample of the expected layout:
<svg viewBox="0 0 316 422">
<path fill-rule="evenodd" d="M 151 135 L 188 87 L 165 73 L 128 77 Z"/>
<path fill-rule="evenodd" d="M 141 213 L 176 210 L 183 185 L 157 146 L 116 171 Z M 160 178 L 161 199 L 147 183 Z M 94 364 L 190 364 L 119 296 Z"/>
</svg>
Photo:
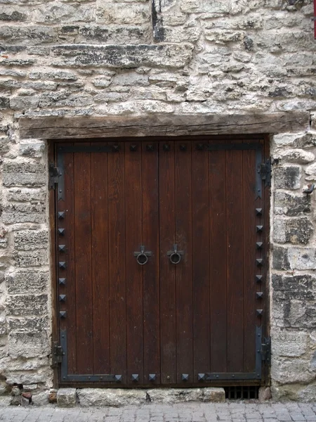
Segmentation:
<svg viewBox="0 0 316 422">
<path fill-rule="evenodd" d="M 57 155 L 55 153 L 56 146 L 59 143 L 84 143 L 87 141 L 93 142 L 127 142 L 127 141 L 159 141 L 159 142 L 166 142 L 166 139 L 171 139 L 173 141 L 205 141 L 205 140 L 212 140 L 217 141 L 218 143 L 223 143 L 223 141 L 263 141 L 263 160 L 268 160 L 270 158 L 270 135 L 269 134 L 227 134 L 227 135 L 197 135 L 194 134 L 190 136 L 129 136 L 129 137 L 100 137 L 100 138 L 77 138 L 77 139 L 48 139 L 48 165 L 53 163 L 54 165 L 57 162 Z M 267 186 L 265 188 L 264 193 L 264 205 L 265 205 L 265 212 L 263 217 L 263 224 L 265 226 L 264 231 L 264 243 L 265 243 L 265 266 L 264 266 L 264 279 L 265 283 L 263 283 L 262 290 L 265 296 L 265 312 L 262 318 L 262 326 L 263 326 L 263 338 L 268 337 L 270 335 L 270 196 L 271 196 L 271 188 Z M 59 336 L 59 327 L 58 327 L 58 289 L 56 284 L 56 277 L 57 277 L 57 243 L 56 243 L 56 226 L 55 226 L 55 215 L 56 215 L 56 200 L 55 200 L 55 189 L 51 188 L 48 189 L 48 213 L 49 213 L 49 231 L 50 231 L 50 267 L 51 267 L 51 326 L 52 326 L 52 350 L 54 345 L 59 344 L 60 336 Z M 257 380 L 249 380 L 249 381 L 211 381 L 211 383 L 204 383 L 196 388 L 201 387 L 224 387 L 230 385 L 269 385 L 270 384 L 270 362 L 263 364 L 263 372 L 262 378 L 260 381 Z M 69 385 L 73 387 L 74 385 Z M 59 379 L 59 369 L 58 367 L 53 368 L 53 387 L 60 388 L 60 379 Z M 62 387 L 67 387 L 66 384 L 62 383 Z M 76 388 L 96 388 L 102 387 L 102 385 L 94 384 L 94 383 L 76 383 Z M 120 386 L 120 388 L 122 388 Z M 157 388 L 164 388 L 160 385 Z"/>
</svg>

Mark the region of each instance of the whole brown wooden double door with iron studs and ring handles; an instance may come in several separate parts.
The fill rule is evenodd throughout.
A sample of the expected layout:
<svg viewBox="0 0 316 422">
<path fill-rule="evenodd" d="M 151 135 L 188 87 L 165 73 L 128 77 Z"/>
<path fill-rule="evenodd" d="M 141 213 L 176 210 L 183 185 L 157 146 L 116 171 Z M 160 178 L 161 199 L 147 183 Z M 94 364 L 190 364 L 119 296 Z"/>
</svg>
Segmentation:
<svg viewBox="0 0 316 422">
<path fill-rule="evenodd" d="M 262 377 L 258 139 L 56 143 L 60 384 Z"/>
</svg>

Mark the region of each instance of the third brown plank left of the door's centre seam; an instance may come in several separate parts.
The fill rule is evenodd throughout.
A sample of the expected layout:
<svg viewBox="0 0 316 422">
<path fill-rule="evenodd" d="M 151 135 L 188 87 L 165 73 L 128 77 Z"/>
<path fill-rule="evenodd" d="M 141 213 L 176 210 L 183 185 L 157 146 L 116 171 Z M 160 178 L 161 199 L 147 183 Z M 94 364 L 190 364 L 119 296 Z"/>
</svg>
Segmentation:
<svg viewBox="0 0 316 422">
<path fill-rule="evenodd" d="M 125 172 L 124 143 L 107 156 L 110 373 L 126 383 L 126 276 L 125 276 Z"/>
</svg>

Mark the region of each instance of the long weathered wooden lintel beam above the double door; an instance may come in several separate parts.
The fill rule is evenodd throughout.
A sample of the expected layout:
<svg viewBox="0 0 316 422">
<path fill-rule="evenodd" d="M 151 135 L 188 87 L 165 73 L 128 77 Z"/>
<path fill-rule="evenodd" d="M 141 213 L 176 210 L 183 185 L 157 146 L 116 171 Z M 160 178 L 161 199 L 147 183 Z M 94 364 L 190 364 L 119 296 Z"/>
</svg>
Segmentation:
<svg viewBox="0 0 316 422">
<path fill-rule="evenodd" d="M 143 115 L 21 119 L 24 139 L 111 138 L 119 136 L 185 136 L 208 134 L 274 134 L 305 131 L 308 112 L 244 115 Z"/>
</svg>

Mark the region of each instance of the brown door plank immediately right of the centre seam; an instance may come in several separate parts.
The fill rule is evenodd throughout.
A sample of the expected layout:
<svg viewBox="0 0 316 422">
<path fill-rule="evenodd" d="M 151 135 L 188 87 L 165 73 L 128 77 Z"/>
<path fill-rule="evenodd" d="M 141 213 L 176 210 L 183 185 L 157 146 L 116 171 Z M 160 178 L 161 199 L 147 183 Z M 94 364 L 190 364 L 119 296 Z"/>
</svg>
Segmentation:
<svg viewBox="0 0 316 422">
<path fill-rule="evenodd" d="M 159 150 L 160 350 L 161 382 L 176 383 L 176 266 L 166 252 L 175 243 L 174 142 Z"/>
</svg>

